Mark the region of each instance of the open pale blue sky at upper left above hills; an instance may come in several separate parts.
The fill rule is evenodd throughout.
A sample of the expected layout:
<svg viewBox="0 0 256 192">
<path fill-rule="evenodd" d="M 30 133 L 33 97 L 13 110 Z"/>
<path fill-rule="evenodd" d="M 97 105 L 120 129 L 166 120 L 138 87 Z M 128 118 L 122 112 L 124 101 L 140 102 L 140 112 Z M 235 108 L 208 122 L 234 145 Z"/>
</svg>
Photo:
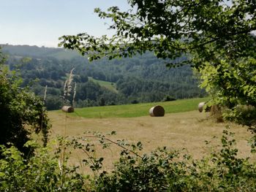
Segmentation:
<svg viewBox="0 0 256 192">
<path fill-rule="evenodd" d="M 111 6 L 129 9 L 127 0 L 0 0 L 0 44 L 58 47 L 63 35 L 110 35 L 94 8 Z"/>
</svg>

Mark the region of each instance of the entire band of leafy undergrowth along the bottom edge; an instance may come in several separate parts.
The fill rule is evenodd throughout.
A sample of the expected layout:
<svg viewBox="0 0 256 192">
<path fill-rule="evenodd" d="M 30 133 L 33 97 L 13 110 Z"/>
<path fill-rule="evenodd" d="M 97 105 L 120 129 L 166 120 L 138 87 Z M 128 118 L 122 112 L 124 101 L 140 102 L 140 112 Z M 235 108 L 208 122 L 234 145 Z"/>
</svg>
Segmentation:
<svg viewBox="0 0 256 192">
<path fill-rule="evenodd" d="M 256 164 L 250 158 L 238 158 L 236 141 L 228 129 L 223 131 L 222 147 L 214 147 L 211 155 L 200 160 L 167 147 L 143 153 L 141 142 L 129 144 L 108 137 L 99 133 L 59 137 L 54 149 L 38 148 L 29 161 L 15 147 L 1 146 L 4 158 L 0 159 L 0 191 L 256 190 Z M 106 153 L 111 153 L 110 147 L 121 149 L 118 161 L 108 172 L 102 169 L 104 158 L 95 156 L 93 138 Z M 75 150 L 85 157 L 80 166 L 71 166 L 69 161 L 69 151 Z M 86 167 L 94 174 L 81 173 Z"/>
</svg>

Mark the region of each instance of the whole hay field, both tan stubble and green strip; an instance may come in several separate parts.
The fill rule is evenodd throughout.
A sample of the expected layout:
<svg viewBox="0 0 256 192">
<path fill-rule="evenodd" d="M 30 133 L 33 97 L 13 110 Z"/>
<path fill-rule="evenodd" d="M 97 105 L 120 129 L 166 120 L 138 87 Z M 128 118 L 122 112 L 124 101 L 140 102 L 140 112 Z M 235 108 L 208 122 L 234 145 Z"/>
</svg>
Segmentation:
<svg viewBox="0 0 256 192">
<path fill-rule="evenodd" d="M 143 143 L 142 153 L 148 153 L 157 147 L 166 146 L 170 149 L 183 150 L 194 158 L 202 158 L 211 153 L 211 147 L 217 149 L 221 145 L 220 138 L 226 126 L 235 133 L 238 155 L 250 155 L 247 139 L 251 136 L 246 128 L 233 123 L 217 123 L 207 112 L 198 112 L 197 104 L 205 99 L 187 99 L 151 104 L 131 104 L 124 106 L 88 107 L 75 109 L 75 113 L 61 111 L 49 112 L 53 128 L 51 141 L 56 135 L 64 137 L 91 137 L 87 131 L 99 131 L 108 134 L 116 131 L 116 135 L 106 136 L 113 141 L 125 139 L 129 143 Z M 165 108 L 164 117 L 150 117 L 148 110 L 155 104 Z M 206 141 L 211 145 L 206 146 Z M 96 146 L 94 155 L 105 158 L 105 169 L 111 169 L 118 158 L 120 148 L 111 147 L 102 150 L 97 139 L 90 139 Z M 211 147 L 210 147 L 211 146 Z M 75 151 L 72 164 L 81 164 L 86 155 Z"/>
</svg>

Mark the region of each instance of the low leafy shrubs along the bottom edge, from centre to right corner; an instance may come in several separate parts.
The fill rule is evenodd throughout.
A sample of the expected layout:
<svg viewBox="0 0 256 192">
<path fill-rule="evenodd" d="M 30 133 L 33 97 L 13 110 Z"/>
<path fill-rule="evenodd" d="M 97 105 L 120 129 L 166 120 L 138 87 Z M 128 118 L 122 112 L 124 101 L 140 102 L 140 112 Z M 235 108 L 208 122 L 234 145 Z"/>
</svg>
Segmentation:
<svg viewBox="0 0 256 192">
<path fill-rule="evenodd" d="M 95 180 L 94 190 L 256 191 L 256 164 L 237 157 L 233 133 L 223 131 L 221 140 L 222 148 L 201 160 L 166 147 L 142 156 L 124 150 L 113 172 Z"/>
</svg>

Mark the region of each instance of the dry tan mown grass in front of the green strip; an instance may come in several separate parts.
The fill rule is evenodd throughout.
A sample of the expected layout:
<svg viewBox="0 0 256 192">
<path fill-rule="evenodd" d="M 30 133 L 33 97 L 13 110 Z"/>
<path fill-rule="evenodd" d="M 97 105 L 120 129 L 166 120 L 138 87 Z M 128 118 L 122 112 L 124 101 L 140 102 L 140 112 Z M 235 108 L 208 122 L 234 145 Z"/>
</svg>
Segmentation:
<svg viewBox="0 0 256 192">
<path fill-rule="evenodd" d="M 141 141 L 145 153 L 156 147 L 167 146 L 173 149 L 186 148 L 194 158 L 201 158 L 209 153 L 205 141 L 212 141 L 212 145 L 220 145 L 219 138 L 227 123 L 215 123 L 208 118 L 208 113 L 179 112 L 166 114 L 165 117 L 152 118 L 78 118 L 67 117 L 65 113 L 49 112 L 53 123 L 51 137 L 61 134 L 64 136 L 83 136 L 86 131 L 99 131 L 102 134 L 116 131 L 116 136 L 110 139 L 126 139 L 129 142 Z M 236 133 L 239 155 L 250 155 L 246 139 L 250 134 L 246 128 L 230 124 L 231 130 Z M 217 139 L 213 139 L 213 137 Z M 103 152 L 98 149 L 97 155 L 105 157 L 106 169 L 110 169 L 112 162 L 118 157 L 118 148 Z M 79 164 L 83 153 L 75 153 L 72 161 Z"/>
</svg>

